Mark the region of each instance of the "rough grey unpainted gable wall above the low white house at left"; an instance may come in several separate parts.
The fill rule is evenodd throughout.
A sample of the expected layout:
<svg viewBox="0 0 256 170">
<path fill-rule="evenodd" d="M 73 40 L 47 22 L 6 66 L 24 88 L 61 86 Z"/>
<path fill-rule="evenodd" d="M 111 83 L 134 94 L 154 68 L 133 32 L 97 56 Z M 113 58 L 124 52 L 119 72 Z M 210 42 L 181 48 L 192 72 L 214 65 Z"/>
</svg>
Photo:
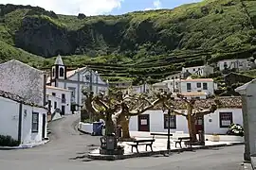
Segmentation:
<svg viewBox="0 0 256 170">
<path fill-rule="evenodd" d="M 0 64 L 0 90 L 15 93 L 27 101 L 44 105 L 44 73 L 18 60 Z"/>
</svg>

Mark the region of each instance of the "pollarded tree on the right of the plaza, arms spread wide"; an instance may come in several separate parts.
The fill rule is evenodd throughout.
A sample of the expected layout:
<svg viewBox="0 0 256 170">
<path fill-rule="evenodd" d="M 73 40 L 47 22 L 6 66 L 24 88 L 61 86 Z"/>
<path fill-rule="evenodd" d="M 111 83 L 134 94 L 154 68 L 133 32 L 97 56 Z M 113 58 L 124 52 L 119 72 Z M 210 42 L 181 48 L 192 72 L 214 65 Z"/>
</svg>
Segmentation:
<svg viewBox="0 0 256 170">
<path fill-rule="evenodd" d="M 210 108 L 203 109 L 203 108 L 195 108 L 195 99 L 192 98 L 191 100 L 188 100 L 184 97 L 182 94 L 177 94 L 177 97 L 179 97 L 183 102 L 186 103 L 187 106 L 187 113 L 179 111 L 179 110 L 173 110 L 174 114 L 176 115 L 182 115 L 185 116 L 188 122 L 188 128 L 190 137 L 192 137 L 192 142 L 196 142 L 196 129 L 195 129 L 195 121 L 199 117 L 203 117 L 204 115 L 210 114 L 217 110 L 217 105 L 212 104 Z M 168 103 L 164 104 L 167 109 L 170 109 L 170 105 Z"/>
</svg>

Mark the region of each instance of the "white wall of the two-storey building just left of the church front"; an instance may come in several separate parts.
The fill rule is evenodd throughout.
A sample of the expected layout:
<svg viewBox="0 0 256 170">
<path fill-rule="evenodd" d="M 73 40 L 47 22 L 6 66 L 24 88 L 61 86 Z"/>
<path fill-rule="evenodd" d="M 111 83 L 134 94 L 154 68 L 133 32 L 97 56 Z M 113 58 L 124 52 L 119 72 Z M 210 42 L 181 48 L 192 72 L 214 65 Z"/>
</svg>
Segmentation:
<svg viewBox="0 0 256 170">
<path fill-rule="evenodd" d="M 52 93 L 56 93 L 56 96 L 52 96 Z M 65 96 L 64 103 L 62 100 L 63 93 Z M 62 106 L 64 106 L 64 113 L 71 114 L 71 91 L 46 86 L 46 94 L 48 95 L 48 100 L 51 100 L 51 112 L 54 111 L 54 102 L 57 102 L 57 108 L 62 110 Z"/>
</svg>

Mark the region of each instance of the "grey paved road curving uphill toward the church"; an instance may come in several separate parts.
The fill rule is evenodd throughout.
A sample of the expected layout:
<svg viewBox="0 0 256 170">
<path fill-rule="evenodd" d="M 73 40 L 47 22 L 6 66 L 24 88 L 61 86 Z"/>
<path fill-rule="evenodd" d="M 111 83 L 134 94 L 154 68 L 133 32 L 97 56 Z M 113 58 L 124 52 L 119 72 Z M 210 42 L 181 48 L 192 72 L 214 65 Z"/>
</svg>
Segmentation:
<svg viewBox="0 0 256 170">
<path fill-rule="evenodd" d="M 242 170 L 244 146 L 197 150 L 123 161 L 87 161 L 79 158 L 89 152 L 99 137 L 81 135 L 75 130 L 78 115 L 54 122 L 51 142 L 24 150 L 0 150 L 1 170 Z M 74 159 L 76 158 L 77 159 Z"/>
</svg>

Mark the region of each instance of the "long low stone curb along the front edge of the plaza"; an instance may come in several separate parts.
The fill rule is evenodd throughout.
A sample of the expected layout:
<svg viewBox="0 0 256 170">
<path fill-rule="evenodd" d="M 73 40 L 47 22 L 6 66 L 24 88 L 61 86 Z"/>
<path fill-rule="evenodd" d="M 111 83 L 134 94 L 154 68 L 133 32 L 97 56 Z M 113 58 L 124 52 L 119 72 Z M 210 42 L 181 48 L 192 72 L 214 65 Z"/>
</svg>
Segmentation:
<svg viewBox="0 0 256 170">
<path fill-rule="evenodd" d="M 172 153 L 172 152 L 192 151 L 192 150 L 197 150 L 197 149 L 209 149 L 209 148 L 214 148 L 214 147 L 223 147 L 223 146 L 231 146 L 231 145 L 238 145 L 238 144 L 245 144 L 245 143 L 203 145 L 203 146 L 193 147 L 193 148 L 186 147 L 186 148 L 170 150 L 170 152 Z M 95 154 L 89 154 L 88 158 L 93 159 L 93 160 L 115 161 L 115 160 L 125 160 L 125 159 L 137 158 L 137 157 L 151 157 L 153 155 L 165 155 L 165 154 L 168 154 L 168 153 L 169 153 L 169 150 L 131 153 L 131 154 L 127 154 L 127 155 L 95 155 Z"/>
</svg>

